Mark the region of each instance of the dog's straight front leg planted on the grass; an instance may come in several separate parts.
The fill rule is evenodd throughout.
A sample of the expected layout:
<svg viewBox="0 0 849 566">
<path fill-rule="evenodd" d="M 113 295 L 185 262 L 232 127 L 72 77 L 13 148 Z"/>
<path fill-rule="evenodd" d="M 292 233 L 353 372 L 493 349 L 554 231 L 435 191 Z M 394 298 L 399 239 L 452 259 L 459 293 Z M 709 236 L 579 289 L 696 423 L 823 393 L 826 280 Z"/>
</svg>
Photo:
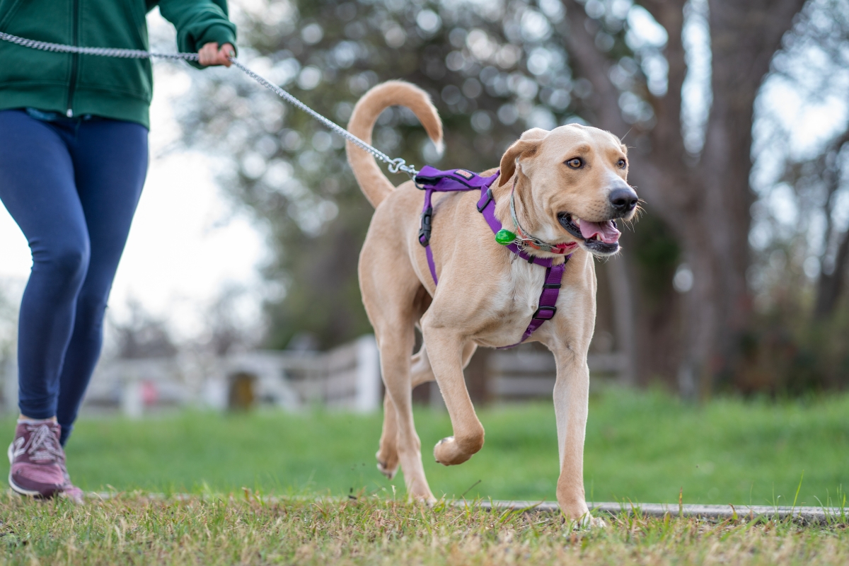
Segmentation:
<svg viewBox="0 0 849 566">
<path fill-rule="evenodd" d="M 583 487 L 583 446 L 587 429 L 589 367 L 586 354 L 568 347 L 554 350 L 557 381 L 554 383 L 554 413 L 557 416 L 557 443 L 560 477 L 557 502 L 566 518 L 587 521 L 589 509 Z"/>
</svg>

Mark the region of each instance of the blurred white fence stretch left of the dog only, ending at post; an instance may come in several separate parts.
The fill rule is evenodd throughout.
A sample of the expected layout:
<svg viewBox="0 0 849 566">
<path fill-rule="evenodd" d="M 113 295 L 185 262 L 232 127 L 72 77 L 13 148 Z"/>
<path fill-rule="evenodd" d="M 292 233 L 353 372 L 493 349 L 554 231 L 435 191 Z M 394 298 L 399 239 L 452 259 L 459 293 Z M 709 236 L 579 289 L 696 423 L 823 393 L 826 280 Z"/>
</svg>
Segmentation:
<svg viewBox="0 0 849 566">
<path fill-rule="evenodd" d="M 6 367 L 3 398 L 17 406 L 17 368 Z M 328 352 L 250 351 L 232 356 L 184 353 L 172 358 L 104 360 L 84 407 L 121 408 L 132 417 L 166 406 L 216 409 L 321 405 L 370 412 L 381 405 L 380 356 L 367 335 Z"/>
</svg>

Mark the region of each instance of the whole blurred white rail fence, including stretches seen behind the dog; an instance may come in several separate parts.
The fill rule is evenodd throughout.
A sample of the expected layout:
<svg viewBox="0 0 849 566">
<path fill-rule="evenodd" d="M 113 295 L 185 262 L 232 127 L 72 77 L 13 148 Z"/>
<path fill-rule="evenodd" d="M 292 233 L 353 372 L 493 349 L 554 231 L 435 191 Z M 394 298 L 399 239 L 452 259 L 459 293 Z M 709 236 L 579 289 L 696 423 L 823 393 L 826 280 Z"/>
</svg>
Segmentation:
<svg viewBox="0 0 849 566">
<path fill-rule="evenodd" d="M 588 358 L 597 375 L 620 375 L 627 369 L 621 353 Z M 2 369 L 2 368 L 0 368 Z M 3 399 L 17 406 L 17 370 L 8 364 Z M 556 368 L 548 351 L 526 348 L 493 351 L 486 360 L 486 400 L 523 401 L 548 397 Z M 85 408 L 107 408 L 132 417 L 167 406 L 216 409 L 278 406 L 297 410 L 326 406 L 356 412 L 381 406 L 380 356 L 374 336 L 367 335 L 327 352 L 258 350 L 216 357 L 183 353 L 165 359 L 104 360 L 89 386 Z M 442 404 L 430 388 L 430 404 Z"/>
</svg>

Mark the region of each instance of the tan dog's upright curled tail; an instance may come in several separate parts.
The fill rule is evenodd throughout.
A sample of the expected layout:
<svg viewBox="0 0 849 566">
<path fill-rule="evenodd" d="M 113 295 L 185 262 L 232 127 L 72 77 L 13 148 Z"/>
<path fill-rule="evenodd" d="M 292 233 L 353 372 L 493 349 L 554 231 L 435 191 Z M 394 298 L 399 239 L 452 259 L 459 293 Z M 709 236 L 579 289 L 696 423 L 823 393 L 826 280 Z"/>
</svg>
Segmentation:
<svg viewBox="0 0 849 566">
<path fill-rule="evenodd" d="M 430 96 L 421 88 L 405 81 L 386 81 L 372 88 L 360 98 L 348 122 L 348 132 L 359 137 L 365 143 L 371 143 L 374 122 L 380 113 L 390 106 L 406 106 L 413 110 L 419 118 L 436 149 L 442 151 L 442 121 L 436 108 L 430 102 Z M 374 207 L 380 205 L 395 189 L 395 186 L 385 176 L 380 165 L 372 154 L 357 148 L 353 143 L 346 143 L 348 163 L 354 171 L 354 177 L 363 189 L 368 202 Z"/>
</svg>

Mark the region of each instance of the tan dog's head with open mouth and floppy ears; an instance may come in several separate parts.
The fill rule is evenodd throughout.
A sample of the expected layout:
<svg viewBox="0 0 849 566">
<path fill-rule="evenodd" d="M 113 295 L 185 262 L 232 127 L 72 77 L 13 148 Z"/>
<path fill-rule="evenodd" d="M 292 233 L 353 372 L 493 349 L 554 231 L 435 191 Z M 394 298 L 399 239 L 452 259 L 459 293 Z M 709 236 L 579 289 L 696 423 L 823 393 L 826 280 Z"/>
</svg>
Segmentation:
<svg viewBox="0 0 849 566">
<path fill-rule="evenodd" d="M 594 255 L 616 254 L 616 220 L 630 220 L 638 202 L 619 138 L 577 124 L 551 132 L 534 128 L 501 158 L 500 184 L 514 173 L 516 199 L 537 238 L 553 244 L 577 240 Z"/>
</svg>

